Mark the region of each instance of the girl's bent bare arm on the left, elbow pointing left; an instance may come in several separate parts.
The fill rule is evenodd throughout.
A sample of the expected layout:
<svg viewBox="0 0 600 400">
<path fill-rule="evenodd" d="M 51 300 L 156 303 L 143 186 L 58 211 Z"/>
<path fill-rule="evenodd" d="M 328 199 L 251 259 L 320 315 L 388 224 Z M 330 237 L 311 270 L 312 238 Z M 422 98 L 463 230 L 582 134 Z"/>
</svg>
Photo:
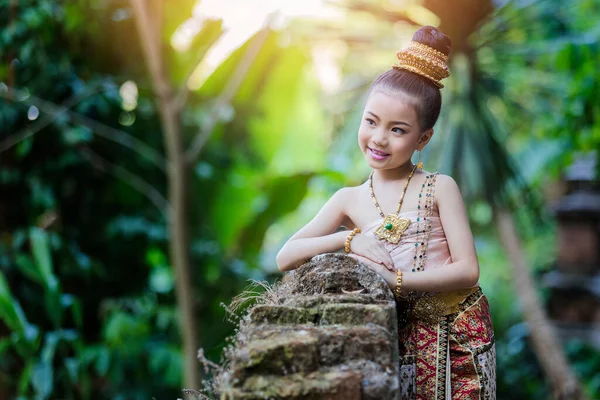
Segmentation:
<svg viewBox="0 0 600 400">
<path fill-rule="evenodd" d="M 277 266 L 289 271 L 317 254 L 335 252 L 344 247 L 349 231 L 335 232 L 346 219 L 345 198 L 349 189 L 338 190 L 319 213 L 283 245 L 277 254 Z"/>
</svg>

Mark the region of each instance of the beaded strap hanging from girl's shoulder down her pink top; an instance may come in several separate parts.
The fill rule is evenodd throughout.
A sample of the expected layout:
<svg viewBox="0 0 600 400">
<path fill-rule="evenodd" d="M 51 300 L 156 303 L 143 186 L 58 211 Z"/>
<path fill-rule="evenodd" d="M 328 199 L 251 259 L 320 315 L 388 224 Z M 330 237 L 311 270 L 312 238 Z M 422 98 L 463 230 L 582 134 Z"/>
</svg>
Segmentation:
<svg viewBox="0 0 600 400">
<path fill-rule="evenodd" d="M 429 246 L 429 236 L 431 234 L 431 216 L 433 215 L 434 203 L 434 188 L 438 173 L 425 176 L 425 182 L 421 184 L 421 192 L 417 203 L 417 235 L 415 243 L 415 255 L 413 257 L 412 272 L 423 271 L 427 262 L 427 247 Z M 426 189 L 425 189 L 426 188 Z M 425 189 L 425 210 L 423 217 L 421 215 L 421 199 L 423 198 L 423 190 Z M 421 218 L 423 219 L 423 227 L 421 228 Z M 420 234 L 420 235 L 419 235 Z M 419 254 L 419 244 L 421 245 Z"/>
</svg>

